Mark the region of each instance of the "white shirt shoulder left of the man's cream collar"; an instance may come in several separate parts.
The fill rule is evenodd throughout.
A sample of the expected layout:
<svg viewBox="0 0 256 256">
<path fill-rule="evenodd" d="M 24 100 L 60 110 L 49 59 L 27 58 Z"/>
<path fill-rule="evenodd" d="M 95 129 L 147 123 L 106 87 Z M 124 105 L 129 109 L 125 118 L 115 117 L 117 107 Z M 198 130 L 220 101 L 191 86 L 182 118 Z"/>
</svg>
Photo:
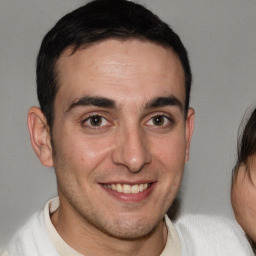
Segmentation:
<svg viewBox="0 0 256 256">
<path fill-rule="evenodd" d="M 58 255 L 46 231 L 43 212 L 34 214 L 15 233 L 5 253 L 9 256 Z"/>
</svg>

